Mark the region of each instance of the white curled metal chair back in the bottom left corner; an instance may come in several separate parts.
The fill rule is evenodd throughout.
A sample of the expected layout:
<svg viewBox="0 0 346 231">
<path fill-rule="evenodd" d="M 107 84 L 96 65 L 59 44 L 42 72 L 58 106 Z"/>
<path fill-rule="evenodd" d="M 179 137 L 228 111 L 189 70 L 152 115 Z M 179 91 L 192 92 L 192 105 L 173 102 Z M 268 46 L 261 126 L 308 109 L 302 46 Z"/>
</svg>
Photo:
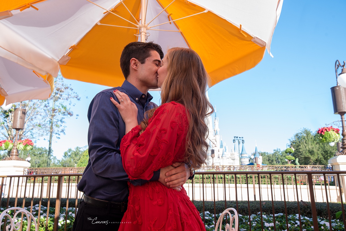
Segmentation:
<svg viewBox="0 0 346 231">
<path fill-rule="evenodd" d="M 7 213 L 10 210 L 15 210 L 15 214 L 13 215 L 13 218 L 11 218 L 10 214 Z M 31 228 L 31 220 L 34 221 L 35 231 L 38 231 L 38 225 L 37 225 L 37 222 L 36 222 L 34 215 L 31 214 L 29 211 L 22 209 L 22 208 L 19 208 L 19 207 L 12 207 L 12 208 L 8 208 L 8 209 L 4 210 L 0 214 L 0 223 L 2 223 L 3 222 L 2 219 L 4 219 L 6 217 L 9 219 L 9 223 L 10 223 L 9 225 L 6 226 L 7 231 L 20 230 L 21 225 L 22 225 L 22 223 L 21 223 L 22 221 L 15 223 L 15 220 L 18 219 L 17 215 L 21 214 L 21 213 L 24 213 L 26 215 L 26 218 L 28 221 L 28 227 L 27 227 L 26 231 L 29 231 Z M 6 223 L 4 223 L 4 225 L 6 225 Z M 9 229 L 10 227 L 11 227 L 11 229 Z M 16 228 L 16 227 L 18 227 L 18 228 Z"/>
</svg>

